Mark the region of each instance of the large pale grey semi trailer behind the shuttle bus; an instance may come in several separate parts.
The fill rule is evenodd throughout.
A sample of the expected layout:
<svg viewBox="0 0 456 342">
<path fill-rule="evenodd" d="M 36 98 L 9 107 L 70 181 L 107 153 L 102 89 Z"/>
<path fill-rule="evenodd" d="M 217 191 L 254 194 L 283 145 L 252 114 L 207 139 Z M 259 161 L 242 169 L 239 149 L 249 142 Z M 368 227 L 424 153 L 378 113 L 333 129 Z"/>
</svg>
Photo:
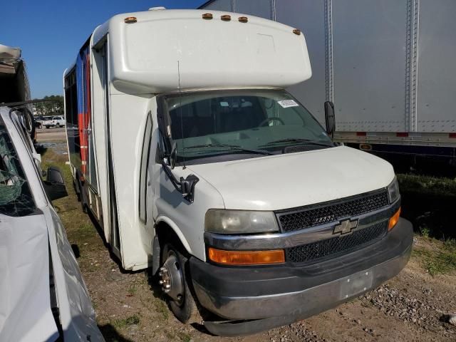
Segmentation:
<svg viewBox="0 0 456 342">
<path fill-rule="evenodd" d="M 456 165 L 456 1 L 213 0 L 202 9 L 252 14 L 301 29 L 312 78 L 289 91 L 334 139 L 383 157 Z"/>
</svg>

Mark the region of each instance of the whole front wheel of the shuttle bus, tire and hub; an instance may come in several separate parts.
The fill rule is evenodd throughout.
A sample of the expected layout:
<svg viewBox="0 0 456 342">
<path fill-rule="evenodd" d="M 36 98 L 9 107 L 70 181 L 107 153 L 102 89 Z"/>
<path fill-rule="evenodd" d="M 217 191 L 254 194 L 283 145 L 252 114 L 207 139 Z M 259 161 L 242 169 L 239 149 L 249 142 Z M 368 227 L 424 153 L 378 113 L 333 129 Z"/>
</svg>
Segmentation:
<svg viewBox="0 0 456 342">
<path fill-rule="evenodd" d="M 188 258 L 173 244 L 167 243 L 162 249 L 162 266 L 158 276 L 162 291 L 167 294 L 172 313 L 182 323 L 198 321 L 195 297 L 189 286 Z"/>
</svg>

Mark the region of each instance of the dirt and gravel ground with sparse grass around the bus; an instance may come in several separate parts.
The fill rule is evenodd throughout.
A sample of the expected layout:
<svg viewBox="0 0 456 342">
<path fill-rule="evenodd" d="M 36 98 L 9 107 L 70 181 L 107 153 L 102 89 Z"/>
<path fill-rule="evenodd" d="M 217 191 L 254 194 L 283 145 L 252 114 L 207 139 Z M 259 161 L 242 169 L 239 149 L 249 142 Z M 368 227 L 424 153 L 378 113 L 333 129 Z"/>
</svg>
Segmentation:
<svg viewBox="0 0 456 342">
<path fill-rule="evenodd" d="M 110 256 L 76 199 L 64 146 L 45 145 L 43 167 L 53 164 L 64 171 L 69 196 L 54 204 L 68 240 L 80 251 L 78 262 L 106 341 L 456 341 L 456 326 L 446 318 L 456 313 L 456 244 L 428 234 L 416 234 L 412 258 L 394 279 L 305 321 L 238 338 L 210 336 L 201 325 L 183 325 L 145 271 L 123 271 Z"/>
</svg>

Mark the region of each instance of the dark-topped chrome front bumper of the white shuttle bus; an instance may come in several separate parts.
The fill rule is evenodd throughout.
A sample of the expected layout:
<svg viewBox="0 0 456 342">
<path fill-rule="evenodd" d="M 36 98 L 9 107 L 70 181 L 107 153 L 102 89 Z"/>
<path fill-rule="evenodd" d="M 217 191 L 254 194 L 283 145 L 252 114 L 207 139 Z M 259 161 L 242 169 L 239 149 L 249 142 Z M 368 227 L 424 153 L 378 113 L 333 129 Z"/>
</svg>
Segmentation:
<svg viewBox="0 0 456 342">
<path fill-rule="evenodd" d="M 223 267 L 190 259 L 193 286 L 200 304 L 229 320 L 207 322 L 209 331 L 239 335 L 282 326 L 331 309 L 399 273 L 407 264 L 413 227 L 400 219 L 374 244 L 336 259 L 305 266 Z"/>
</svg>

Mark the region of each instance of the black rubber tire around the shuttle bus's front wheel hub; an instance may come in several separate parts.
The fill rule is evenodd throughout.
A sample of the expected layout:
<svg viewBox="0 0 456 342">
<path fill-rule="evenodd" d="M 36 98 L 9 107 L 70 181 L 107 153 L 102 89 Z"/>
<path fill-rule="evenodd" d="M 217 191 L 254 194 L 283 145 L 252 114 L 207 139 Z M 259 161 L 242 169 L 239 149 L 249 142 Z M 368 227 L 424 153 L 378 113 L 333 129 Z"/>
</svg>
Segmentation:
<svg viewBox="0 0 456 342">
<path fill-rule="evenodd" d="M 174 255 L 177 259 L 178 266 L 177 268 L 182 271 L 182 280 L 183 280 L 183 294 L 182 300 L 176 301 L 170 296 L 166 295 L 167 303 L 170 307 L 172 314 L 182 323 L 194 323 L 200 321 L 197 304 L 195 301 L 195 295 L 193 294 L 190 284 L 190 271 L 188 264 L 188 257 L 182 254 L 181 250 L 176 248 L 172 243 L 167 243 L 162 249 L 162 263 L 161 266 L 164 266 L 165 261 Z M 161 270 L 161 268 L 160 268 Z"/>
</svg>

